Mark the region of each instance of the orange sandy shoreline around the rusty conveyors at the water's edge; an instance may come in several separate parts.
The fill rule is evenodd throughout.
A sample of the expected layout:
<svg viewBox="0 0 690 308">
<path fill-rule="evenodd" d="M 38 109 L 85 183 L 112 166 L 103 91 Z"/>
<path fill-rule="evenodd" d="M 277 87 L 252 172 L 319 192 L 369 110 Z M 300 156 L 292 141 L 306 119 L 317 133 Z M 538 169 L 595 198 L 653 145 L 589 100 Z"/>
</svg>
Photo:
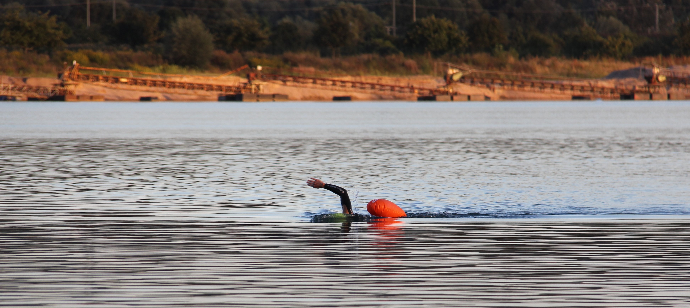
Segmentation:
<svg viewBox="0 0 690 308">
<path fill-rule="evenodd" d="M 20 86 L 43 86 L 43 87 L 55 87 L 61 85 L 61 79 L 48 78 L 48 77 L 10 77 L 10 76 L 0 76 L 2 83 L 20 85 Z M 246 84 L 247 79 L 230 76 L 229 78 L 224 78 L 222 80 L 218 79 L 208 79 L 208 77 L 203 76 L 190 76 L 178 78 L 179 82 L 201 82 L 222 85 L 237 86 L 240 84 Z M 379 77 L 379 76 L 348 76 L 339 77 L 344 81 L 364 81 L 364 82 L 375 82 L 381 84 L 391 84 L 394 86 L 411 86 L 414 88 L 443 88 L 446 86 L 444 79 L 441 77 L 433 77 L 431 75 L 415 75 L 411 77 Z M 616 84 L 627 84 L 628 86 L 638 86 L 644 83 L 643 80 L 637 78 L 618 78 L 618 79 L 598 79 L 595 81 L 597 84 L 602 86 L 615 86 Z M 471 84 L 455 83 L 451 85 L 454 93 L 457 95 L 435 95 L 435 96 L 420 96 L 415 93 L 397 93 L 392 91 L 383 90 L 369 90 L 369 89 L 358 89 L 349 90 L 346 88 L 338 88 L 337 86 L 323 86 L 319 84 L 295 84 L 288 83 L 284 81 L 259 81 L 262 86 L 262 93 L 267 94 L 277 94 L 284 97 L 287 95 L 286 99 L 267 99 L 268 101 L 290 101 L 290 102 L 334 102 L 334 101 L 352 101 L 352 102 L 362 102 L 362 101 L 377 101 L 377 102 L 391 102 L 391 101 L 405 101 L 405 102 L 416 102 L 416 101 L 458 101 L 458 102 L 471 102 L 471 101 L 573 101 L 573 100 L 591 100 L 595 101 L 598 99 L 613 101 L 619 99 L 611 99 L 610 97 L 596 97 L 595 95 L 572 95 L 570 94 L 559 94 L 559 93 L 544 93 L 530 91 L 530 90 L 511 90 L 502 89 L 500 87 L 489 87 L 489 86 L 475 86 Z M 80 102 L 92 102 L 92 101 L 106 101 L 106 102 L 217 102 L 224 100 L 225 94 L 213 93 L 205 90 L 186 90 L 186 89 L 166 89 L 157 88 L 149 86 L 133 86 L 128 84 L 106 84 L 103 82 L 71 82 L 68 87 L 73 91 L 74 96 L 64 97 L 65 101 L 80 101 Z M 667 100 L 671 99 L 671 95 L 667 90 L 663 90 L 660 95 L 651 97 L 630 97 L 630 99 L 636 100 Z M 687 99 L 690 93 L 687 90 L 676 90 L 678 95 L 673 96 L 673 99 Z M 3 100 L 35 100 L 29 99 L 29 97 L 21 97 L 19 95 L 4 95 L 1 96 Z M 458 99 L 460 97 L 460 99 Z M 337 99 L 340 98 L 340 99 Z M 255 99 L 255 101 L 261 101 L 262 99 Z M 266 100 L 266 99 L 264 99 Z M 620 99 L 627 100 L 627 99 Z M 233 100 L 228 99 L 226 102 L 233 102 Z"/>
</svg>

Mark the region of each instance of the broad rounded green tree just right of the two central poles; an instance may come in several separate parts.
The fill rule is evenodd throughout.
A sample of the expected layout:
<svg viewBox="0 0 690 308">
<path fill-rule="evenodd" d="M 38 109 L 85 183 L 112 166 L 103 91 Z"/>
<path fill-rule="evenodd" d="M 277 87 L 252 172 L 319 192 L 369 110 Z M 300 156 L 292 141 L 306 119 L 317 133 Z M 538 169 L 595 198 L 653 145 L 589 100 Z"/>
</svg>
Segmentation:
<svg viewBox="0 0 690 308">
<path fill-rule="evenodd" d="M 431 15 L 411 24 L 405 33 L 404 45 L 413 52 L 442 55 L 464 50 L 467 37 L 457 30 L 453 21 Z"/>
</svg>

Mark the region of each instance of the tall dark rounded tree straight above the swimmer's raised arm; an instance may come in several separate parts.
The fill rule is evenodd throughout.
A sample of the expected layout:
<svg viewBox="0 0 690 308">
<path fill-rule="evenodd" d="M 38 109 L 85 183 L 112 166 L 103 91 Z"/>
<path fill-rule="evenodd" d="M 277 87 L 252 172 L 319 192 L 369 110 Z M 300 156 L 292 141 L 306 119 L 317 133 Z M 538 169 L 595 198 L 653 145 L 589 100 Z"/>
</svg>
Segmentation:
<svg viewBox="0 0 690 308">
<path fill-rule="evenodd" d="M 331 12 L 322 15 L 317 22 L 319 25 L 314 32 L 314 41 L 319 46 L 331 48 L 332 57 L 335 58 L 335 52 L 353 43 L 355 40 L 355 32 L 340 10 L 331 10 Z"/>
</svg>

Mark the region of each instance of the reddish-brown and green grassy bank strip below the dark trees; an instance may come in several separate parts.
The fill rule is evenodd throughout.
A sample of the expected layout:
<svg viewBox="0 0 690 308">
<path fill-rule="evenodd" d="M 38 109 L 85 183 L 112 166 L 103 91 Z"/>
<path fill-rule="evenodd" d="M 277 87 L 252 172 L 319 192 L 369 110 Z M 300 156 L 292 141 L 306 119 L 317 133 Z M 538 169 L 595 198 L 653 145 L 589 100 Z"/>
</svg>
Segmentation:
<svg viewBox="0 0 690 308">
<path fill-rule="evenodd" d="M 518 59 L 509 52 L 491 55 L 469 55 L 430 58 L 423 55 L 356 55 L 319 57 L 308 52 L 286 52 L 266 55 L 258 52 L 224 52 L 216 50 L 210 65 L 204 69 L 184 68 L 168 64 L 161 55 L 143 51 L 62 50 L 52 55 L 0 49 L 0 72 L 14 77 L 55 77 L 65 64 L 77 60 L 83 66 L 121 68 L 157 73 L 215 75 L 244 64 L 261 65 L 279 70 L 292 70 L 304 75 L 431 75 L 435 61 L 447 61 L 484 70 L 505 70 L 570 77 L 600 78 L 614 70 L 639 66 L 642 61 L 655 61 L 662 66 L 687 65 L 690 57 L 646 57 L 620 61 L 614 59 L 566 59 L 562 57 L 527 57 Z"/>
</svg>

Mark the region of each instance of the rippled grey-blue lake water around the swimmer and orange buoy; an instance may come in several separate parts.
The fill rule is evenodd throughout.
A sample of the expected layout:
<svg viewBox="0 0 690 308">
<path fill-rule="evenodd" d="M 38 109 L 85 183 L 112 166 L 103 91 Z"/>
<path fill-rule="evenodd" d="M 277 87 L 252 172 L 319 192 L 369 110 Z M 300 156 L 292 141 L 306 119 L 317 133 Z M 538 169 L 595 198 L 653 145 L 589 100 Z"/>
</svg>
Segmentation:
<svg viewBox="0 0 690 308">
<path fill-rule="evenodd" d="M 689 174 L 690 102 L 3 102 L 0 307 L 688 307 Z"/>
</svg>

